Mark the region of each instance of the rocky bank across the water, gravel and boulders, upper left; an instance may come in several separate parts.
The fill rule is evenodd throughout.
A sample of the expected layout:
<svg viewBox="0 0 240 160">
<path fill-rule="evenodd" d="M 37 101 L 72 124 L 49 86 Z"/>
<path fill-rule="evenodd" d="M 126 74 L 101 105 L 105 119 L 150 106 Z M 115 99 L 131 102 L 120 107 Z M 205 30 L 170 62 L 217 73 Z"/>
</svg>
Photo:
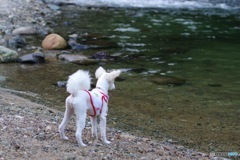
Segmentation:
<svg viewBox="0 0 240 160">
<path fill-rule="evenodd" d="M 0 2 L 0 63 L 16 61 L 44 63 L 45 57 L 49 57 L 47 50 L 67 49 L 67 42 L 60 35 L 48 35 L 54 32 L 49 27 L 53 23 L 49 19 L 61 11 L 59 6 L 47 2 L 41 0 L 3 0 Z M 36 45 L 31 44 L 27 42 L 27 36 L 41 36 L 43 43 L 40 40 Z M 69 41 L 69 46 L 73 50 L 85 49 L 84 45 L 69 39 L 72 40 Z M 45 54 L 42 49 L 45 49 Z M 56 56 L 60 54 L 61 56 Z M 92 59 L 79 54 L 72 55 L 66 51 L 58 51 L 54 58 L 84 65 L 98 62 L 96 58 Z"/>
</svg>

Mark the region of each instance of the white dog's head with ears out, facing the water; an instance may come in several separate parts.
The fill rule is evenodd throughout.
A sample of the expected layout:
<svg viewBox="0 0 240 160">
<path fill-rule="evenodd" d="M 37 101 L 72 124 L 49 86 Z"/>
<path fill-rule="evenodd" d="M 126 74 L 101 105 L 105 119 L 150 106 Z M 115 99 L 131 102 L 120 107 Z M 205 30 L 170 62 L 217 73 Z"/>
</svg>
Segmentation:
<svg viewBox="0 0 240 160">
<path fill-rule="evenodd" d="M 106 79 L 109 90 L 115 89 L 114 80 L 120 74 L 121 74 L 121 70 L 113 70 L 110 73 L 108 73 L 102 67 L 99 67 L 95 72 L 95 76 L 96 76 L 97 79 L 99 79 L 99 81 L 102 81 L 103 79 Z"/>
</svg>

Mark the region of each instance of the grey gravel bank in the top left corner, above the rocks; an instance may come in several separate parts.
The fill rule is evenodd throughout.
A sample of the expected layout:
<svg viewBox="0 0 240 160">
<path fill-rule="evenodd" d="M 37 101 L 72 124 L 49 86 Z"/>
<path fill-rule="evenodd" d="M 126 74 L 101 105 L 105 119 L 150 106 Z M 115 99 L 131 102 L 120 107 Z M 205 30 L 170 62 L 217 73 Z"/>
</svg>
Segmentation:
<svg viewBox="0 0 240 160">
<path fill-rule="evenodd" d="M 45 19 L 54 14 L 41 0 L 1 0 L 0 36 L 11 34 L 14 29 L 25 26 L 46 29 Z"/>
</svg>

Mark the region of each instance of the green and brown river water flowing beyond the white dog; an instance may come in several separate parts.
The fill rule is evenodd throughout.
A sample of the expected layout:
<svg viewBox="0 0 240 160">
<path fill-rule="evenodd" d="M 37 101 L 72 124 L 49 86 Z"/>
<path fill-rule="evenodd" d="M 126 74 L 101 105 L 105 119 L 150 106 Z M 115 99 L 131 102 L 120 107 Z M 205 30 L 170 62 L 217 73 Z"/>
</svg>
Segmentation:
<svg viewBox="0 0 240 160">
<path fill-rule="evenodd" d="M 79 43 L 101 47 L 77 53 L 117 55 L 100 65 L 126 71 L 110 92 L 109 126 L 206 152 L 240 152 L 238 1 L 74 2 L 88 7 L 63 6 L 51 19 L 54 31 L 66 39 L 82 35 Z M 40 45 L 43 38 L 29 41 Z M 48 106 L 64 110 L 65 88 L 53 84 L 77 69 L 93 74 L 98 66 L 54 58 L 1 64 L 7 77 L 1 86 L 38 93 Z"/>
</svg>

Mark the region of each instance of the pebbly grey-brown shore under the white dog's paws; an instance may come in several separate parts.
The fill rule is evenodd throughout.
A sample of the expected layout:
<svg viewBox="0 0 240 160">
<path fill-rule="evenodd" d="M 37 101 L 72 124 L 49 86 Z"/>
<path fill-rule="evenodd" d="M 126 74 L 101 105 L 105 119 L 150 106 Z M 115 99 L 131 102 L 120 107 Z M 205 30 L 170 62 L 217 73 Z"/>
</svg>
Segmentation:
<svg viewBox="0 0 240 160">
<path fill-rule="evenodd" d="M 108 128 L 110 145 L 90 138 L 87 123 L 83 140 L 87 147 L 78 147 L 75 139 L 75 118 L 67 127 L 69 141 L 58 135 L 63 113 L 36 104 L 18 95 L 35 97 L 29 92 L 0 89 L 0 159 L 210 159 L 208 154 L 183 146 L 151 140 Z M 88 120 L 89 122 L 89 120 Z"/>
</svg>

